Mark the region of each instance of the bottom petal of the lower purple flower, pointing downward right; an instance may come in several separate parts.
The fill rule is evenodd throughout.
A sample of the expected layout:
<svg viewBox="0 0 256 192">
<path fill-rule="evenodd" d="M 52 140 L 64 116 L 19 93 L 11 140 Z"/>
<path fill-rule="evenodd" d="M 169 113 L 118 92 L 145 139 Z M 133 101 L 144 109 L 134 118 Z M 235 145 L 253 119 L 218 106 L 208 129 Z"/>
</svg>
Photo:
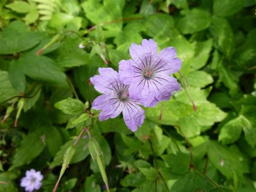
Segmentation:
<svg viewBox="0 0 256 192">
<path fill-rule="evenodd" d="M 137 131 L 144 122 L 145 114 L 143 109 L 134 102 L 125 102 L 123 110 L 124 122 L 131 131 Z"/>
</svg>

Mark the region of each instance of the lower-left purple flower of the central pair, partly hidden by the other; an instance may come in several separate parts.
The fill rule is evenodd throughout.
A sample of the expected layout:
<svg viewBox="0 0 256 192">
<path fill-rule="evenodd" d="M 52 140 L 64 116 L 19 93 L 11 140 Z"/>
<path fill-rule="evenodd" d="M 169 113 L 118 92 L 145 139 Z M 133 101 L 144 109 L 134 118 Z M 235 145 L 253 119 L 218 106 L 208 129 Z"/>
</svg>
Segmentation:
<svg viewBox="0 0 256 192">
<path fill-rule="evenodd" d="M 100 76 L 91 77 L 90 81 L 95 89 L 104 93 L 97 97 L 92 108 L 102 110 L 99 120 L 115 118 L 121 112 L 124 116 L 124 122 L 131 131 L 136 131 L 138 126 L 143 124 L 145 115 L 136 100 L 129 97 L 129 85 L 120 81 L 118 73 L 113 68 L 99 68 Z"/>
</svg>

